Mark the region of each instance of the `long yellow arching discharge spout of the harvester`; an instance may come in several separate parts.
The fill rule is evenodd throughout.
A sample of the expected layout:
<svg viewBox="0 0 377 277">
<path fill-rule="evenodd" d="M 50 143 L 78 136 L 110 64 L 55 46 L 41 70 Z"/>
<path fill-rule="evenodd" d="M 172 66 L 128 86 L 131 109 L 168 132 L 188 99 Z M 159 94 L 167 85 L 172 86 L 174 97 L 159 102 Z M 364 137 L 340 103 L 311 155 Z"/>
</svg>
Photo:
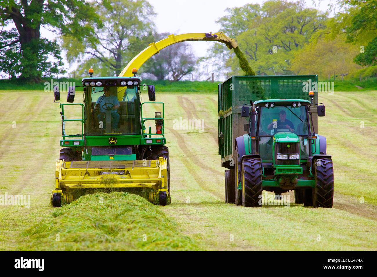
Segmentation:
<svg viewBox="0 0 377 277">
<path fill-rule="evenodd" d="M 153 55 L 158 54 L 161 49 L 183 41 L 219 41 L 225 43 L 229 49 L 236 48 L 238 44 L 233 38 L 227 37 L 223 32 L 213 33 L 212 37 L 206 37 L 205 33 L 188 33 L 181 35 L 169 35 L 160 41 L 150 43 L 149 46 L 136 55 L 119 74 L 119 77 L 133 77 L 132 69 L 137 70 Z M 213 37 L 216 35 L 217 37 Z M 118 88 L 118 99 L 122 99 L 125 87 Z"/>
</svg>

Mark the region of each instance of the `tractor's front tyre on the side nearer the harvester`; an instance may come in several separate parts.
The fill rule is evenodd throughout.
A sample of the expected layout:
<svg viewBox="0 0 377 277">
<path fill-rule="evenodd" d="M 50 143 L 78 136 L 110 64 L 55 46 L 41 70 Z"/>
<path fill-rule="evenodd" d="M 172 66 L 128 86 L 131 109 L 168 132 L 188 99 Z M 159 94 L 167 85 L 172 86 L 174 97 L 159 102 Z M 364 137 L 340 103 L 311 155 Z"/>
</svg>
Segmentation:
<svg viewBox="0 0 377 277">
<path fill-rule="evenodd" d="M 242 161 L 242 205 L 244 207 L 262 206 L 262 161 L 245 158 Z"/>
</svg>

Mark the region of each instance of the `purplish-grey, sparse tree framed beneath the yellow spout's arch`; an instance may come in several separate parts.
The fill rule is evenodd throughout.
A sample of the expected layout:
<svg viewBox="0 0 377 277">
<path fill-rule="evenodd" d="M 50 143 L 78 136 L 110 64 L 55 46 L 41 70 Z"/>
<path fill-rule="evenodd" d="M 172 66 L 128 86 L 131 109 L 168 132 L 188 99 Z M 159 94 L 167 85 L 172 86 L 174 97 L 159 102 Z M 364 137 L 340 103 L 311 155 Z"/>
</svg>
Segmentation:
<svg viewBox="0 0 377 277">
<path fill-rule="evenodd" d="M 155 34 L 154 40 L 159 41 L 169 34 Z M 195 55 L 188 43 L 176 43 L 162 49 L 143 65 L 143 72 L 153 74 L 157 80 L 169 79 L 179 81 L 193 72 Z"/>
</svg>

